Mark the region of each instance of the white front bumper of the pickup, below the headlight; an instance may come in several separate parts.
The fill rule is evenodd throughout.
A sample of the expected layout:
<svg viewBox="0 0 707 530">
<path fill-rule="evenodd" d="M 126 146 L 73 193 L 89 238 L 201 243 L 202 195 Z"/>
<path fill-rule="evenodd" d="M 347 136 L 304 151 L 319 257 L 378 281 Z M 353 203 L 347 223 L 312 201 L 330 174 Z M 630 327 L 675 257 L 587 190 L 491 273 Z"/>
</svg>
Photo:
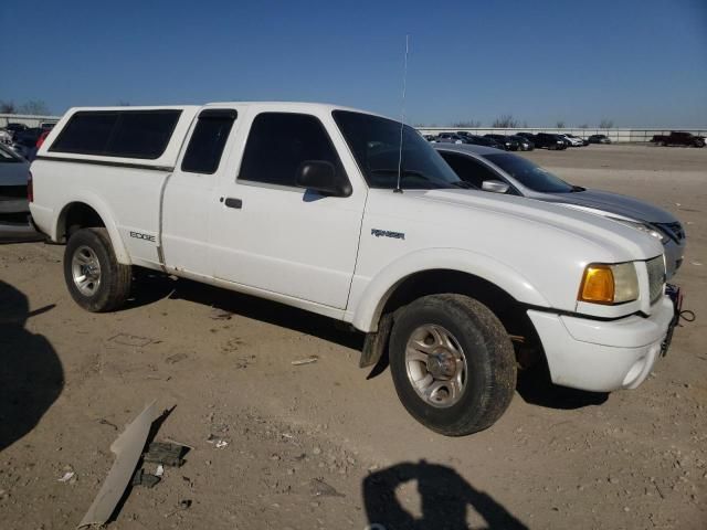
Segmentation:
<svg viewBox="0 0 707 530">
<path fill-rule="evenodd" d="M 552 382 L 573 389 L 610 392 L 635 389 L 651 373 L 674 320 L 668 296 L 648 318 L 591 320 L 528 310 L 548 361 Z"/>
</svg>

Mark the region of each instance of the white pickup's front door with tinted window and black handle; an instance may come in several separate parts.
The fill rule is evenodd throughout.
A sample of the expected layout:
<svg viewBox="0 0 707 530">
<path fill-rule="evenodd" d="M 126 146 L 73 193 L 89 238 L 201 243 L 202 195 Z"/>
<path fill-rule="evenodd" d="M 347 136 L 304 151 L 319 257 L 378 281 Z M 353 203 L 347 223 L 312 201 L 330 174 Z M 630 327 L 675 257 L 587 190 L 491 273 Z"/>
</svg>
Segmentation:
<svg viewBox="0 0 707 530">
<path fill-rule="evenodd" d="M 215 277 L 333 308 L 346 308 L 366 190 L 325 197 L 295 186 L 305 161 L 326 160 L 348 178 L 320 117 L 261 113 L 236 174 L 219 191 L 211 225 Z M 337 141 L 342 142 L 339 138 Z"/>
</svg>

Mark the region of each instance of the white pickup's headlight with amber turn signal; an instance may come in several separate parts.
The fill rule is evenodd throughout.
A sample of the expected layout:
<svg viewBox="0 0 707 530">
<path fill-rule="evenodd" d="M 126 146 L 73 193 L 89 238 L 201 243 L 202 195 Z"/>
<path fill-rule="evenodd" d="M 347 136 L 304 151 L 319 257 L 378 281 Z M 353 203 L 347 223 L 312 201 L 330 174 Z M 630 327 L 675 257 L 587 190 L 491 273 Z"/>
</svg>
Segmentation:
<svg viewBox="0 0 707 530">
<path fill-rule="evenodd" d="M 639 277 L 633 262 L 587 265 L 577 297 L 592 304 L 623 304 L 639 298 Z"/>
</svg>

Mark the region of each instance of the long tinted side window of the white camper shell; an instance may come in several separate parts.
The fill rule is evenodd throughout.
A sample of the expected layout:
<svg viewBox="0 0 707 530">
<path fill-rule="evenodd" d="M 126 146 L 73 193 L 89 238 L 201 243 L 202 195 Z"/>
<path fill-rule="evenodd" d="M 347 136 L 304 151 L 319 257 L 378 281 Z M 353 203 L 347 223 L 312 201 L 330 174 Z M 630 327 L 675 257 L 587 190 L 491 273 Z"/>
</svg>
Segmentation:
<svg viewBox="0 0 707 530">
<path fill-rule="evenodd" d="M 181 110 L 80 110 L 50 152 L 155 160 L 167 149 Z"/>
</svg>

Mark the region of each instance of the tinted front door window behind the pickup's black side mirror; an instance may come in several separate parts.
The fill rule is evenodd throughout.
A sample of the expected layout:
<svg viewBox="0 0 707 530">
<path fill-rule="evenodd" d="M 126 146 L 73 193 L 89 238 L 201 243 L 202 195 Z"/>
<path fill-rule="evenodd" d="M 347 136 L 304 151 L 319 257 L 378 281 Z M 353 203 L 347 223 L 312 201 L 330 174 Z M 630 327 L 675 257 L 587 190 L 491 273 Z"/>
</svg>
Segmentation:
<svg viewBox="0 0 707 530">
<path fill-rule="evenodd" d="M 238 180 L 295 188 L 297 170 L 308 160 L 328 161 L 338 177 L 348 179 L 319 118 L 261 113 L 251 125 Z"/>
</svg>

